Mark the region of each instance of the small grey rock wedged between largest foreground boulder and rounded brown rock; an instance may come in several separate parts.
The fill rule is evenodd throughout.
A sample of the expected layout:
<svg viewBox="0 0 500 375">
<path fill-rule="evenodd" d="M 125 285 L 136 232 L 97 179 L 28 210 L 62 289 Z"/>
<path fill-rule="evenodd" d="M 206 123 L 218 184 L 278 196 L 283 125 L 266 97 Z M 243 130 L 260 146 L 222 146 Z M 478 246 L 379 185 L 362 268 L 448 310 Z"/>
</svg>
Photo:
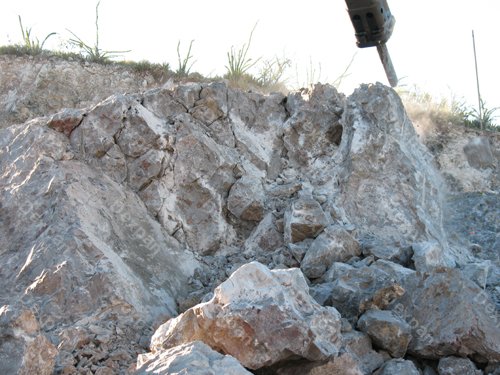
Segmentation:
<svg viewBox="0 0 500 375">
<path fill-rule="evenodd" d="M 370 337 L 363 332 L 351 331 L 342 334 L 345 346 L 359 363 L 364 374 L 371 374 L 384 363 L 384 357 L 373 350 Z"/>
</svg>

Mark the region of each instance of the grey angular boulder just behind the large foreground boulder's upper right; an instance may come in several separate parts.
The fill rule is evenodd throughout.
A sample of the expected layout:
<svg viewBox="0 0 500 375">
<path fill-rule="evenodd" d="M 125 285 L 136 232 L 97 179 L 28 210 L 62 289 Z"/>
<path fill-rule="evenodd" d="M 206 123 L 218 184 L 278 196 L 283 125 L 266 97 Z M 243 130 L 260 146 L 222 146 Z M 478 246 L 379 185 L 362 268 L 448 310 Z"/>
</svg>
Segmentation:
<svg viewBox="0 0 500 375">
<path fill-rule="evenodd" d="M 310 279 L 321 277 L 334 262 L 345 262 L 361 254 L 358 241 L 339 225 L 332 225 L 314 240 L 300 264 Z"/>
</svg>

